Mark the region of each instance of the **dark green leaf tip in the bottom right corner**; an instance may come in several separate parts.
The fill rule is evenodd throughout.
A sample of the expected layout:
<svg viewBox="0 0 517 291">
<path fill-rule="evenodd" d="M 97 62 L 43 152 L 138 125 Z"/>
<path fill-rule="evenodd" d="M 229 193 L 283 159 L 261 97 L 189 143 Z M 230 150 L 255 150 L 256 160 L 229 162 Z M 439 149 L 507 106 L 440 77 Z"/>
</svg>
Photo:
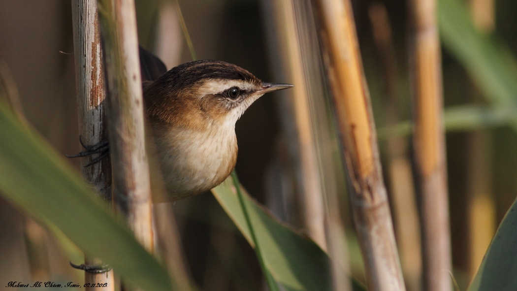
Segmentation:
<svg viewBox="0 0 517 291">
<path fill-rule="evenodd" d="M 468 291 L 517 290 L 517 200 L 499 225 Z"/>
</svg>

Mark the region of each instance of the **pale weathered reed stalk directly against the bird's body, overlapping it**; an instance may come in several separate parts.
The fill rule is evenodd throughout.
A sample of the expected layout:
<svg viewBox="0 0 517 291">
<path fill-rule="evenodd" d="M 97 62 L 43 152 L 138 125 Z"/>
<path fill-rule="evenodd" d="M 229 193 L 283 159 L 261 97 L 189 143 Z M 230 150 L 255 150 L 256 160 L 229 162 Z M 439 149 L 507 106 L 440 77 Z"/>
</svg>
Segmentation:
<svg viewBox="0 0 517 291">
<path fill-rule="evenodd" d="M 99 0 L 98 7 L 108 87 L 114 201 L 126 215 L 136 239 L 153 253 L 153 204 L 134 2 Z"/>
</svg>

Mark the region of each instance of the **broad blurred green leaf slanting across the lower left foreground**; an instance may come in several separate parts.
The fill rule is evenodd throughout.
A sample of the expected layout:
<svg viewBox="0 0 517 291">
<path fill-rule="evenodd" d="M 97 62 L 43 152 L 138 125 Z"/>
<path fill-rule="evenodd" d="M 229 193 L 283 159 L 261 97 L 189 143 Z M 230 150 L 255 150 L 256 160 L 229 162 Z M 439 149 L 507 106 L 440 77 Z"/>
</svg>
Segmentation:
<svg viewBox="0 0 517 291">
<path fill-rule="evenodd" d="M 85 253 L 110 264 L 125 282 L 171 290 L 166 270 L 134 239 L 80 175 L 0 102 L 0 194 L 57 227 Z"/>
</svg>

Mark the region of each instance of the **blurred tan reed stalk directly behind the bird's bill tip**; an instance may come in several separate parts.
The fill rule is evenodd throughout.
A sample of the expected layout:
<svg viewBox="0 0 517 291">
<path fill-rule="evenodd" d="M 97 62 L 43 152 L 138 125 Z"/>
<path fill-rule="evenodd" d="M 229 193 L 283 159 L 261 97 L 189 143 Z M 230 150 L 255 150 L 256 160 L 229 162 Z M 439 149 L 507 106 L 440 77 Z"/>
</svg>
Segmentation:
<svg viewBox="0 0 517 291">
<path fill-rule="evenodd" d="M 277 27 L 282 27 L 282 36 L 278 37 L 282 41 L 281 59 L 283 60 L 283 73 L 287 75 L 287 83 L 296 84 L 290 92 L 290 106 L 294 113 L 295 132 L 290 134 L 297 140 L 297 157 L 299 164 L 298 190 L 302 195 L 302 213 L 305 227 L 309 231 L 309 236 L 324 250 L 327 249 L 325 239 L 324 218 L 325 210 L 323 207 L 322 185 L 320 172 L 316 157 L 314 134 L 312 131 L 312 121 L 309 111 L 309 93 L 307 91 L 303 68 L 303 56 L 300 52 L 300 41 L 298 39 L 295 15 L 292 1 L 271 1 L 275 8 L 272 10 Z M 279 31 L 280 29 L 276 29 Z M 292 121 L 287 121 L 292 122 Z"/>
</svg>

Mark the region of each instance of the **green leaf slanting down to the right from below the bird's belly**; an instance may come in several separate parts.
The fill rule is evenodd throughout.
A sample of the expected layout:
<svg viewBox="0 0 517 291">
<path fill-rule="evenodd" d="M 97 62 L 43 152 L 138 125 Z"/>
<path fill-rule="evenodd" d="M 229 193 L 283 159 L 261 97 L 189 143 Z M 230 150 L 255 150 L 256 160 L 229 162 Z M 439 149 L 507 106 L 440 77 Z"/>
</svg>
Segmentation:
<svg viewBox="0 0 517 291">
<path fill-rule="evenodd" d="M 264 262 L 285 290 L 331 290 L 329 258 L 312 240 L 302 237 L 273 218 L 241 187 Z M 248 224 L 231 177 L 212 193 L 253 247 Z M 343 274 L 345 275 L 345 274 Z M 354 284 L 354 290 L 364 290 Z"/>
</svg>

